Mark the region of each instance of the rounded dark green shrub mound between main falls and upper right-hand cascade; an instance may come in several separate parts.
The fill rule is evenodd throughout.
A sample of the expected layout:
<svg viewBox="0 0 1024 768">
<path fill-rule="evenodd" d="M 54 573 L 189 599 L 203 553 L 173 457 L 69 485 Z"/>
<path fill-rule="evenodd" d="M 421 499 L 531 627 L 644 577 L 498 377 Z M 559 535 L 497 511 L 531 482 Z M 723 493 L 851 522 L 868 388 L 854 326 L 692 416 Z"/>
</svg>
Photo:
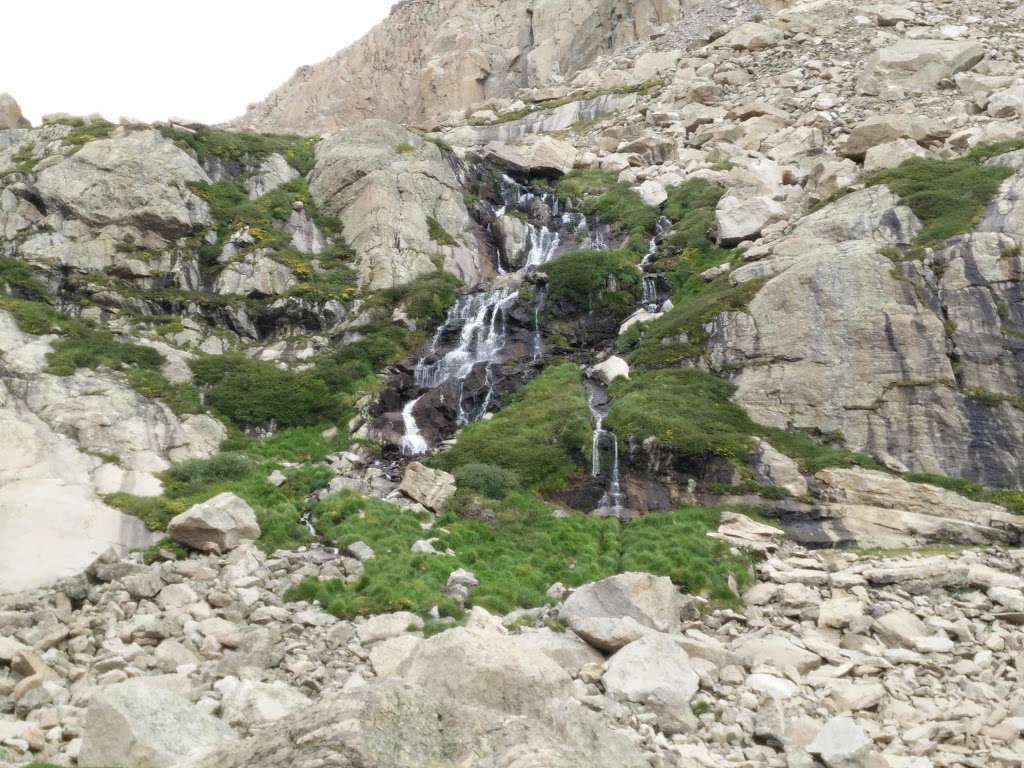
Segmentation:
<svg viewBox="0 0 1024 768">
<path fill-rule="evenodd" d="M 641 278 L 629 251 L 574 251 L 548 262 L 548 301 L 625 317 L 640 299 Z"/>
</svg>

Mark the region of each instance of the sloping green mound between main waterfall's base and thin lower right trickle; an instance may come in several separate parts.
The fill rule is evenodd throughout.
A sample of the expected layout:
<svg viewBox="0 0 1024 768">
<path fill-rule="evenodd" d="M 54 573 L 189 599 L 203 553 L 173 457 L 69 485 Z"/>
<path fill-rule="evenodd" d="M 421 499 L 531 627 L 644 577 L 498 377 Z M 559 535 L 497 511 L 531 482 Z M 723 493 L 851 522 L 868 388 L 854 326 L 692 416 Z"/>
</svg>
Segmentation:
<svg viewBox="0 0 1024 768">
<path fill-rule="evenodd" d="M 524 486 L 558 488 L 580 470 L 590 450 L 591 424 L 580 370 L 545 370 L 511 396 L 495 417 L 467 426 L 431 464 L 449 471 L 490 464 L 514 472 Z"/>
</svg>

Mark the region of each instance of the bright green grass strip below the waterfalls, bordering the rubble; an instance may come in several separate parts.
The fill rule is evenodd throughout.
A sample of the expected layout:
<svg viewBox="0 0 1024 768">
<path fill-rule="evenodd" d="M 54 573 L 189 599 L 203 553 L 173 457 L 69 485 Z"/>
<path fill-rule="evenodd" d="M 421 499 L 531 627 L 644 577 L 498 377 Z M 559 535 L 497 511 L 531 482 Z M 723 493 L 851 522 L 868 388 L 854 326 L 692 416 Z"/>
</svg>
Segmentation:
<svg viewBox="0 0 1024 768">
<path fill-rule="evenodd" d="M 317 506 L 317 525 L 339 546 L 364 541 L 377 556 L 366 563 L 355 584 L 308 579 L 288 594 L 290 600 L 319 600 L 339 616 L 411 610 L 442 615 L 461 608 L 444 594 L 449 574 L 471 570 L 480 586 L 469 605 L 507 613 L 549 602 L 555 582 L 580 586 L 623 570 L 644 569 L 671 577 L 687 591 L 735 602 L 727 578 L 750 583 L 749 560 L 728 554 L 708 538 L 718 525 L 714 510 L 684 508 L 623 524 L 616 519 L 573 515 L 555 518 L 536 496 L 513 494 L 494 507 L 495 522 L 449 514 L 429 534 L 410 512 L 372 499 L 342 494 Z M 413 555 L 418 539 L 436 537 L 438 550 L 454 557 Z"/>
</svg>

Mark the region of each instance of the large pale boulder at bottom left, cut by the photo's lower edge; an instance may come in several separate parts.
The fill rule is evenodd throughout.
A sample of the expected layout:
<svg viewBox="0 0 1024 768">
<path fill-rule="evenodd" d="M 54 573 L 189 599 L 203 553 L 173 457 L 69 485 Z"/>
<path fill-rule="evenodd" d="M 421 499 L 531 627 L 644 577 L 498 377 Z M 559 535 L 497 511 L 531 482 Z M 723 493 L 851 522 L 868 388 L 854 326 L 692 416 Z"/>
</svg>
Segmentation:
<svg viewBox="0 0 1024 768">
<path fill-rule="evenodd" d="M 188 699 L 145 680 L 129 680 L 93 693 L 78 764 L 166 768 L 222 748 L 233 735 Z"/>
</svg>

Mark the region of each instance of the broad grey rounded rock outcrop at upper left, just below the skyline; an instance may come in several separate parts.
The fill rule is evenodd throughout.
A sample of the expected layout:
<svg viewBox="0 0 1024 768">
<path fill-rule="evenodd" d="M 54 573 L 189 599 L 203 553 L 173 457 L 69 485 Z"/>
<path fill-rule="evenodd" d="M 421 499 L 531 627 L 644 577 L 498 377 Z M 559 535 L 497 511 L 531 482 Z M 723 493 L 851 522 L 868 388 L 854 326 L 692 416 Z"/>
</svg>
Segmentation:
<svg viewBox="0 0 1024 768">
<path fill-rule="evenodd" d="M 47 206 L 89 224 L 131 225 L 172 239 L 210 223 L 209 206 L 188 188 L 209 180 L 159 131 L 136 130 L 90 141 L 47 166 L 36 188 Z"/>
</svg>

